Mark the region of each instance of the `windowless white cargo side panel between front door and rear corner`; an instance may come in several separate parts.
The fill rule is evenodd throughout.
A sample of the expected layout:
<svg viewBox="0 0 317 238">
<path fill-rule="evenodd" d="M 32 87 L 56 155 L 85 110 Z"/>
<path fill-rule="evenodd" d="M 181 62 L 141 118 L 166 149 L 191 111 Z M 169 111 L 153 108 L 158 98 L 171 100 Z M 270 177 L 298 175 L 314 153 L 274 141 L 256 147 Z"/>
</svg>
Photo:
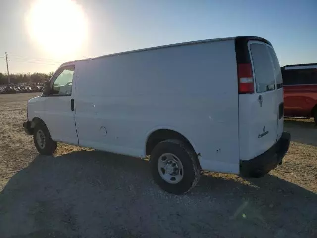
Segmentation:
<svg viewBox="0 0 317 238">
<path fill-rule="evenodd" d="M 148 136 L 171 129 L 202 169 L 239 173 L 234 39 L 75 62 L 79 145 L 145 156 Z"/>
</svg>

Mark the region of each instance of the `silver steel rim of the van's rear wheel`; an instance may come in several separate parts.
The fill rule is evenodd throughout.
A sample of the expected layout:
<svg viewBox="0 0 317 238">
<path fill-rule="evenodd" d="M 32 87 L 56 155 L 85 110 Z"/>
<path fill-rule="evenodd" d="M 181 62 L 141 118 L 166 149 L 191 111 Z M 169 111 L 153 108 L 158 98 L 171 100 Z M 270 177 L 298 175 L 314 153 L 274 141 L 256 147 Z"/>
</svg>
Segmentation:
<svg viewBox="0 0 317 238">
<path fill-rule="evenodd" d="M 158 170 L 162 179 L 171 184 L 179 183 L 184 176 L 182 162 L 171 153 L 164 153 L 159 157 Z"/>
</svg>

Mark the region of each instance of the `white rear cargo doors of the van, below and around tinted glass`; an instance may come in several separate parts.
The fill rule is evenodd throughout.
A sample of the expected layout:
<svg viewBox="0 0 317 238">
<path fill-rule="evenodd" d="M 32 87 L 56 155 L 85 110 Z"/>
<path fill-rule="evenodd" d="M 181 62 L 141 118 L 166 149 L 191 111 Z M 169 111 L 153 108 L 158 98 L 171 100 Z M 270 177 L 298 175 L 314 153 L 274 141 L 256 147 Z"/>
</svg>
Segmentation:
<svg viewBox="0 0 317 238">
<path fill-rule="evenodd" d="M 261 51 L 252 52 L 251 46 L 259 46 Z M 283 102 L 283 88 L 276 88 L 276 79 L 277 76 L 281 77 L 281 72 L 279 65 L 278 69 L 274 68 L 273 56 L 269 52 L 269 47 L 272 48 L 261 41 L 248 42 L 255 92 L 239 95 L 240 160 L 250 160 L 264 153 L 282 136 L 283 117 L 278 119 L 278 110 L 279 104 Z M 259 55 L 260 52 L 261 55 Z M 258 63 L 258 67 L 255 65 L 256 63 Z M 256 72 L 257 69 L 258 72 Z M 259 84 L 257 84 L 259 76 L 272 79 L 275 89 L 261 92 Z"/>
</svg>

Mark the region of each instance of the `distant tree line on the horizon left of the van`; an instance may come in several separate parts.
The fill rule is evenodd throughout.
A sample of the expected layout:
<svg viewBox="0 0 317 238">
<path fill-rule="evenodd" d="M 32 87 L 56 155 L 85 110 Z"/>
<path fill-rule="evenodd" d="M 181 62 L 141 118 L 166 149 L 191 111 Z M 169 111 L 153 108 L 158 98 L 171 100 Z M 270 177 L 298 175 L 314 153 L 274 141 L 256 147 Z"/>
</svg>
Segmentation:
<svg viewBox="0 0 317 238">
<path fill-rule="evenodd" d="M 10 74 L 10 83 L 41 83 L 49 80 L 53 72 L 49 73 L 16 73 Z M 0 73 L 0 85 L 8 84 L 8 75 Z"/>
</svg>

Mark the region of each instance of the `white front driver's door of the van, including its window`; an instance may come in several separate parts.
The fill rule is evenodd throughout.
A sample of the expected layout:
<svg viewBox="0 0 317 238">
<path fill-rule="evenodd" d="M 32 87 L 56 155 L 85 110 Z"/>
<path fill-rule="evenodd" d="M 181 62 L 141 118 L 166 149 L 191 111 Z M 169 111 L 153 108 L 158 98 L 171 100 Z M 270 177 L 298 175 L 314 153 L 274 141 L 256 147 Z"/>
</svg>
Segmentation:
<svg viewBox="0 0 317 238">
<path fill-rule="evenodd" d="M 59 68 L 44 100 L 44 122 L 54 141 L 78 144 L 75 125 L 75 65 Z"/>
</svg>

